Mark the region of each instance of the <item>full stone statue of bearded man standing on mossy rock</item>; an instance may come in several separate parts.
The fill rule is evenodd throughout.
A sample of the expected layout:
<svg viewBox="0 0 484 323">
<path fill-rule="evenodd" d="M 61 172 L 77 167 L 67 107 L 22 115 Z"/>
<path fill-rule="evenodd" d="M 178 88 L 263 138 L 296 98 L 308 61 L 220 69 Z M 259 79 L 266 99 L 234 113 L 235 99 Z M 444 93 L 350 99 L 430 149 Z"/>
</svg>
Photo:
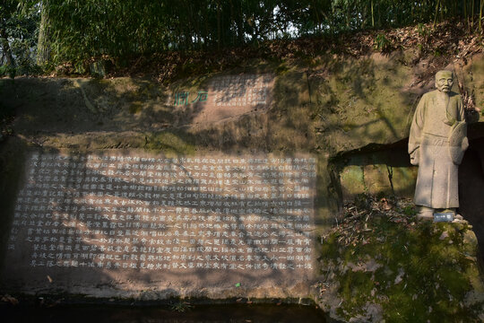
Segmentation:
<svg viewBox="0 0 484 323">
<path fill-rule="evenodd" d="M 452 92 L 451 71 L 436 73 L 436 91 L 425 93 L 411 123 L 409 153 L 419 165 L 415 205 L 419 220 L 433 220 L 434 211 L 459 207 L 459 164 L 469 146 L 461 96 Z"/>
</svg>

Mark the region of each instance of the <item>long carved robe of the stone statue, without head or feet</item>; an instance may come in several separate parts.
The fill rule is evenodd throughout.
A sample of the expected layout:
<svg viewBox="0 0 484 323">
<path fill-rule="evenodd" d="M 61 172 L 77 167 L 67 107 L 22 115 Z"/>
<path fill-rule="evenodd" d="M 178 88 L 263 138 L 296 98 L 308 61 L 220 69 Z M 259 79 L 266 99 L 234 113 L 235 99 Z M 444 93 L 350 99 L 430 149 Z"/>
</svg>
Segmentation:
<svg viewBox="0 0 484 323">
<path fill-rule="evenodd" d="M 451 157 L 449 137 L 456 125 L 465 123 L 465 118 L 461 96 L 454 92 L 448 97 L 442 94 L 428 92 L 419 101 L 411 123 L 409 153 L 411 162 L 419 165 L 415 204 L 445 209 L 459 206 L 460 161 Z"/>
</svg>

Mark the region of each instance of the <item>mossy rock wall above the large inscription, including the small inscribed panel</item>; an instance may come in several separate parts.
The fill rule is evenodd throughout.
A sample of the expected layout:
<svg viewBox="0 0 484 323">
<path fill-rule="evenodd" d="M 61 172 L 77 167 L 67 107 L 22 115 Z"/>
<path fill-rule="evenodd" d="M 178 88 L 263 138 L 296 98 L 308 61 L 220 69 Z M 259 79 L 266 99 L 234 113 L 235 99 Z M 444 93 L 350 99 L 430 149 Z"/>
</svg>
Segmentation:
<svg viewBox="0 0 484 323">
<path fill-rule="evenodd" d="M 194 75 L 169 86 L 143 78 L 2 79 L 0 105 L 15 111 L 13 135 L 0 144 L 2 241 L 6 245 L 23 165 L 33 149 L 67 155 L 142 151 L 167 158 L 309 154 L 315 158 L 317 232 L 335 223 L 343 200 L 360 193 L 410 197 L 416 169 L 405 140 L 435 71 L 455 69 L 476 105 L 484 103 L 481 56 L 447 66 L 423 60 L 413 65 L 418 55 L 413 50 L 327 55 L 312 64 L 280 62 Z M 215 96 L 220 105 L 210 101 Z M 482 162 L 483 121 L 480 114 L 480 122 L 470 127 L 469 155 L 476 165 Z M 470 206 L 474 198 L 462 201 L 462 212 L 476 210 Z M 479 227 L 482 216 L 472 217 Z M 294 295 L 284 286 L 254 291 L 261 297 Z M 226 295 L 239 293 L 232 286 Z"/>
</svg>

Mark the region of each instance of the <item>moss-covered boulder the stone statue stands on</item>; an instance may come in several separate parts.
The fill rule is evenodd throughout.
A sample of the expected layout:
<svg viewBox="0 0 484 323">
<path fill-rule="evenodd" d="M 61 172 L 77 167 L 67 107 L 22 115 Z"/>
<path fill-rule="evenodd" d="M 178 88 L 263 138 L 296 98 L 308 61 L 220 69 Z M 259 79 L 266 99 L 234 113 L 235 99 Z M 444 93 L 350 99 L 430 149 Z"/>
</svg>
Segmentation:
<svg viewBox="0 0 484 323">
<path fill-rule="evenodd" d="M 409 200 L 359 195 L 321 237 L 320 306 L 347 322 L 480 322 L 484 282 L 471 225 L 416 221 Z"/>
</svg>

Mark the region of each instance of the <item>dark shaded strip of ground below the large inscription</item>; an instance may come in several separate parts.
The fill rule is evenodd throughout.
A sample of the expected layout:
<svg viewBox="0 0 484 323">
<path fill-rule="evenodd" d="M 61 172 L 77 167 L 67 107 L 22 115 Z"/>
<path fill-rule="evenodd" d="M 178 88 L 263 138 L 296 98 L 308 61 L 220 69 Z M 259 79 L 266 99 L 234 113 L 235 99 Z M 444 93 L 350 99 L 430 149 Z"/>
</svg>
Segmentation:
<svg viewBox="0 0 484 323">
<path fill-rule="evenodd" d="M 261 301 L 261 302 L 259 302 Z M 324 323 L 324 312 L 314 302 L 298 304 L 285 300 L 238 301 L 172 299 L 139 301 L 35 296 L 30 298 L 0 295 L 0 312 L 7 322 L 296 322 Z"/>
</svg>

